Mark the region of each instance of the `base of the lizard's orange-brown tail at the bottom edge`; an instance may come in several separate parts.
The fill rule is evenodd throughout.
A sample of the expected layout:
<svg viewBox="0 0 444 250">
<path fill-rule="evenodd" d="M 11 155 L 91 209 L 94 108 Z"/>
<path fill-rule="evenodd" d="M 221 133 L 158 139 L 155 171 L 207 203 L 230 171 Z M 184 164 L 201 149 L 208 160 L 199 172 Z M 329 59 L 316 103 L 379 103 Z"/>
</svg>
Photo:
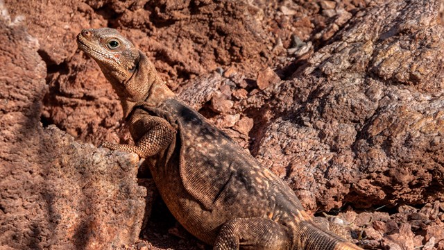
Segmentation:
<svg viewBox="0 0 444 250">
<path fill-rule="evenodd" d="M 362 250 L 339 235 L 324 230 L 309 221 L 301 221 L 294 229 L 293 249 L 305 250 Z"/>
</svg>

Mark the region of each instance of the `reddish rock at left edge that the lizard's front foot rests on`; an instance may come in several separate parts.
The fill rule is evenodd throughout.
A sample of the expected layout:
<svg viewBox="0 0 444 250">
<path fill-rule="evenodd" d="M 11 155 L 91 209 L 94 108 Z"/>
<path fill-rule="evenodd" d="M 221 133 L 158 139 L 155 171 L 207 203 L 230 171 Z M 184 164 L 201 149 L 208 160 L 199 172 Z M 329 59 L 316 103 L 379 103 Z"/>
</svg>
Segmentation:
<svg viewBox="0 0 444 250">
<path fill-rule="evenodd" d="M 39 41 L 0 2 L 0 248 L 109 249 L 139 238 L 146 190 L 138 157 L 40 124 Z"/>
</svg>

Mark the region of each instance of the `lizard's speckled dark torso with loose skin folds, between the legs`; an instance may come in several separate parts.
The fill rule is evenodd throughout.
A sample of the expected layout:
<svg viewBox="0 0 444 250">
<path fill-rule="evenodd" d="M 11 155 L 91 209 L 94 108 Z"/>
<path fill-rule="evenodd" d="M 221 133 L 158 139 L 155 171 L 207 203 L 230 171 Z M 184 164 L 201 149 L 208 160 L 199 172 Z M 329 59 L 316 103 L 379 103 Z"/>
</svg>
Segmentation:
<svg viewBox="0 0 444 250">
<path fill-rule="evenodd" d="M 212 244 L 220 226 L 234 217 L 288 223 L 303 213 L 280 178 L 181 101 L 167 99 L 157 108 L 141 108 L 178 127 L 175 142 L 148 160 L 162 199 L 201 240 Z"/>
</svg>

